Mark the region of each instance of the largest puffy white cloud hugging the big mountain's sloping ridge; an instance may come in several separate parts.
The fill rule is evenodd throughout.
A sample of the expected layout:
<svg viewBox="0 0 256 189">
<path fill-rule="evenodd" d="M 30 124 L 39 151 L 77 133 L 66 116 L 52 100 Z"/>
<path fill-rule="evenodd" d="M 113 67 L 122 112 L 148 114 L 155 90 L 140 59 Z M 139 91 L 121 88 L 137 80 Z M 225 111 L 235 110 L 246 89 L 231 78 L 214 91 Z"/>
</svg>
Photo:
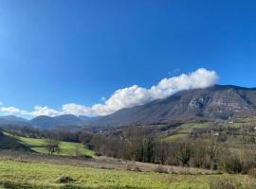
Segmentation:
<svg viewBox="0 0 256 189">
<path fill-rule="evenodd" d="M 142 105 L 155 99 L 165 98 L 182 90 L 205 88 L 214 85 L 218 76 L 214 71 L 200 68 L 188 75 L 163 78 L 150 89 L 134 85 L 119 89 L 104 104 L 96 104 L 91 108 L 93 114 L 105 115 L 122 108 Z"/>
</svg>

